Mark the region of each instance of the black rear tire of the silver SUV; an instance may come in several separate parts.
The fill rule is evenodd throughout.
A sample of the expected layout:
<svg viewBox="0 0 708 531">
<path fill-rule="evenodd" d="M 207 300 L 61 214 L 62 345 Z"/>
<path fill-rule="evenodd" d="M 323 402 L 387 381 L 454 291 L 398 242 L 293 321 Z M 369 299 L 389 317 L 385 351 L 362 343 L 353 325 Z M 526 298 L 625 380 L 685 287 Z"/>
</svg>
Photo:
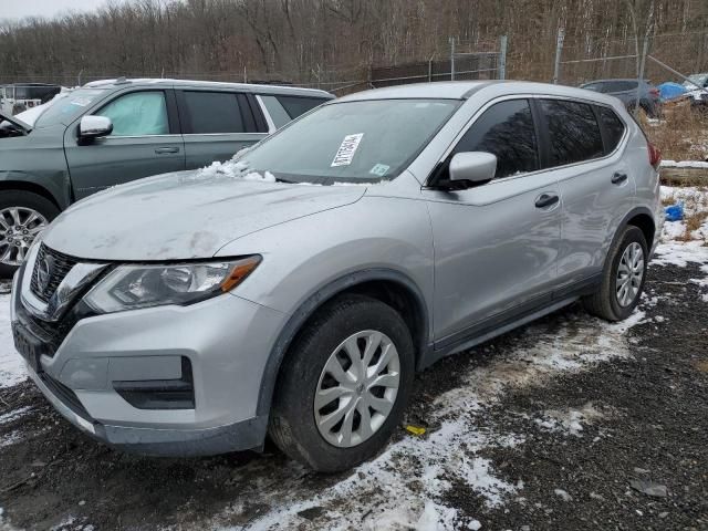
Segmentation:
<svg viewBox="0 0 708 531">
<path fill-rule="evenodd" d="M 638 246 L 638 248 L 636 246 Z M 621 264 L 623 264 L 625 266 L 623 269 L 626 270 L 626 260 L 629 259 L 631 247 L 635 250 L 641 249 L 642 251 L 642 264 L 636 268 L 636 271 L 641 271 L 641 279 L 628 273 L 628 277 L 631 277 L 628 279 L 631 290 L 618 293 L 618 288 L 623 285 L 622 283 L 618 283 L 621 282 L 620 268 Z M 625 253 L 629 254 L 626 256 L 625 262 L 623 262 Z M 617 238 L 615 238 L 615 241 L 612 243 L 610 252 L 607 253 L 607 261 L 605 262 L 605 268 L 602 273 L 602 282 L 597 288 L 597 291 L 592 295 L 583 298 L 583 305 L 585 306 L 585 310 L 592 315 L 602 317 L 606 321 L 616 322 L 627 319 L 639 303 L 639 299 L 644 290 L 648 261 L 647 258 L 648 249 L 644 232 L 632 225 L 622 229 L 622 232 Z M 633 270 L 635 268 L 633 268 Z M 636 288 L 635 293 L 633 293 L 634 288 Z M 629 296 L 628 299 L 624 299 L 621 296 L 622 294 Z"/>
</svg>

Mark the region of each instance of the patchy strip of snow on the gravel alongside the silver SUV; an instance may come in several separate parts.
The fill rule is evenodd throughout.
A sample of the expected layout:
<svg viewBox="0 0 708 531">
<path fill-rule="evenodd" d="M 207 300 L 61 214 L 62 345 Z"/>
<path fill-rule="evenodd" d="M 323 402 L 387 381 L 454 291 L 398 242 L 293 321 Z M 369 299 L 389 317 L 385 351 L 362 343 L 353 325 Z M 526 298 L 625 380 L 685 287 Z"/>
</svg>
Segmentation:
<svg viewBox="0 0 708 531">
<path fill-rule="evenodd" d="M 264 490 L 256 485 L 252 493 L 243 493 L 244 499 L 258 496 L 259 503 L 268 506 L 260 518 L 246 525 L 223 524 L 238 521 L 243 506 L 236 504 L 207 527 L 233 531 L 477 529 L 477 519 L 462 518 L 444 504 L 445 494 L 457 486 L 467 486 L 490 508 L 523 500 L 523 483 L 502 478 L 485 452 L 499 447 L 521 448 L 524 437 L 499 426 L 480 428 L 487 408 L 513 389 L 543 385 L 562 373 L 628 356 L 625 332 L 642 317 L 643 312 L 637 312 L 628 323 L 611 325 L 585 314 L 572 314 L 560 315 L 560 324 L 552 325 L 553 333 L 548 332 L 548 324 L 527 326 L 520 332 L 520 346 L 497 352 L 489 365 L 469 369 L 456 388 L 435 400 L 425 436 L 410 435 L 391 444 L 377 458 L 326 489 L 309 488 L 303 479 L 308 472 L 291 464 L 291 479 L 281 481 L 278 488 L 269 486 Z M 576 436 L 582 436 L 584 424 L 600 415 L 592 405 L 576 414 L 540 415 L 544 413 L 554 415 L 561 425 L 568 418 L 568 429 Z M 241 473 L 252 477 L 246 470 Z M 308 520 L 303 513 L 316 517 Z"/>
</svg>

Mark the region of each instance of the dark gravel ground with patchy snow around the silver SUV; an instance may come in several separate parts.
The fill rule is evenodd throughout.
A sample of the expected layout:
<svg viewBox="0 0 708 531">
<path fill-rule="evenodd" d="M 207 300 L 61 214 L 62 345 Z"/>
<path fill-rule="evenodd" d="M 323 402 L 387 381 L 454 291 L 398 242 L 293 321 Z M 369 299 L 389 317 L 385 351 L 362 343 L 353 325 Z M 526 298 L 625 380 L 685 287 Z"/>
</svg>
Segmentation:
<svg viewBox="0 0 708 531">
<path fill-rule="evenodd" d="M 407 418 L 427 433 L 353 473 L 118 454 L 2 388 L 0 529 L 708 529 L 705 277 L 656 266 L 629 323 L 572 306 L 439 362 Z"/>
</svg>

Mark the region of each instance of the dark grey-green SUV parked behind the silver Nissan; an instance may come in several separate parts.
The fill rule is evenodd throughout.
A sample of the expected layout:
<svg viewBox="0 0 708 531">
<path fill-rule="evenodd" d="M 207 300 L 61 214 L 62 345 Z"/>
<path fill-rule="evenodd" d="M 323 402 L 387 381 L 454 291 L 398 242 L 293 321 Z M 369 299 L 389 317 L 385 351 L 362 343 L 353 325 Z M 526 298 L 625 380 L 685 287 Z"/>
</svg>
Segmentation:
<svg viewBox="0 0 708 531">
<path fill-rule="evenodd" d="M 73 91 L 31 127 L 2 116 L 0 278 L 72 202 L 142 177 L 226 160 L 333 97 L 308 88 L 122 79 Z"/>
</svg>

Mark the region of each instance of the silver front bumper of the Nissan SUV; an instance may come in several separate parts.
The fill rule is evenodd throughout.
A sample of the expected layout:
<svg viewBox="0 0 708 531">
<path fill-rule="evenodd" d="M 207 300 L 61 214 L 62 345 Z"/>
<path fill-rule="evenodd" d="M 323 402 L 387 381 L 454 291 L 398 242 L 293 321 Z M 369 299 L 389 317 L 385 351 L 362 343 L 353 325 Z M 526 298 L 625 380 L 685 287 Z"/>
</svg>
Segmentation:
<svg viewBox="0 0 708 531">
<path fill-rule="evenodd" d="M 27 311 L 20 270 L 12 321 Z M 233 294 L 189 306 L 160 306 L 76 322 L 53 355 L 28 371 L 67 420 L 111 446 L 150 455 L 214 455 L 262 446 L 267 416 L 257 414 L 268 357 L 285 315 Z M 180 377 L 191 364 L 195 407 L 143 409 L 115 382 Z"/>
</svg>

